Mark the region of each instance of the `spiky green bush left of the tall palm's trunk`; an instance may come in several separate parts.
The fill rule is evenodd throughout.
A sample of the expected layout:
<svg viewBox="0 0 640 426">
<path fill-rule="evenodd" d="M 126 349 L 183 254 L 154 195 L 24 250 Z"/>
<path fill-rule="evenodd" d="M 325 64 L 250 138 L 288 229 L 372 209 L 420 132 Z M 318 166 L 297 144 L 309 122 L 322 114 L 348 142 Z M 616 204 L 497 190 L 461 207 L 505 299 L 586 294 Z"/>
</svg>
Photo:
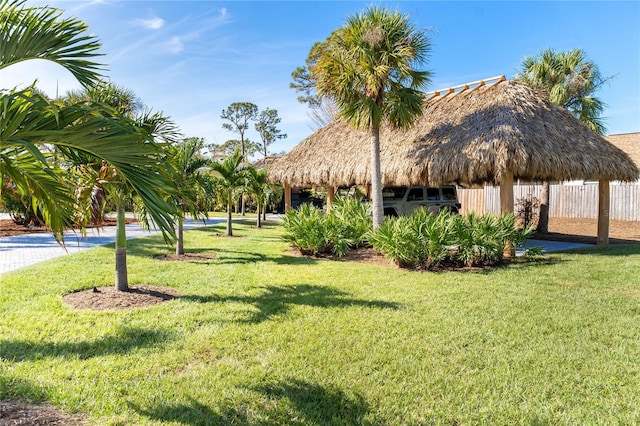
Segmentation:
<svg viewBox="0 0 640 426">
<path fill-rule="evenodd" d="M 372 221 L 366 206 L 358 199 L 337 198 L 331 213 L 326 214 L 312 204 L 302 204 L 288 211 L 283 221 L 284 239 L 306 255 L 335 254 L 344 256 L 366 242 Z"/>
</svg>

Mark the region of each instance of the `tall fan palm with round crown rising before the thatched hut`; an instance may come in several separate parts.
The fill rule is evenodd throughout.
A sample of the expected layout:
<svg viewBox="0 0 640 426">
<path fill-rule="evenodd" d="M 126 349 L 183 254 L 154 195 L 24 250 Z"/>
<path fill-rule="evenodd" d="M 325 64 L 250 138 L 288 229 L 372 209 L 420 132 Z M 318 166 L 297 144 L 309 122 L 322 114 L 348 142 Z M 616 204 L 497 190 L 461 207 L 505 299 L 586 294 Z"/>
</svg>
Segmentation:
<svg viewBox="0 0 640 426">
<path fill-rule="evenodd" d="M 427 59 L 430 48 L 408 16 L 374 6 L 334 31 L 310 69 L 318 95 L 332 99 L 352 126 L 370 132 L 374 228 L 383 219 L 380 127 L 404 128 L 422 113 L 420 89 L 431 74 L 414 65 Z"/>
</svg>

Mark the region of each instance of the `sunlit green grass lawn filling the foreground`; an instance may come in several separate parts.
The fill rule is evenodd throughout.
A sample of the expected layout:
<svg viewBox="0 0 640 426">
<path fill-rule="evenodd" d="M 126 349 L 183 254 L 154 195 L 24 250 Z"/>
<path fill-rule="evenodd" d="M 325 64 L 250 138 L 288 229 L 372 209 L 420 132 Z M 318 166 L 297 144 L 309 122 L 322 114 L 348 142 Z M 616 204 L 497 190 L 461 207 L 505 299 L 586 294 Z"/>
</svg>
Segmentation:
<svg viewBox="0 0 640 426">
<path fill-rule="evenodd" d="M 203 263 L 129 242 L 129 281 L 182 297 L 77 311 L 113 246 L 0 277 L 0 400 L 90 424 L 638 424 L 640 245 L 483 273 L 287 254 L 279 225 L 186 232 Z"/>
</svg>

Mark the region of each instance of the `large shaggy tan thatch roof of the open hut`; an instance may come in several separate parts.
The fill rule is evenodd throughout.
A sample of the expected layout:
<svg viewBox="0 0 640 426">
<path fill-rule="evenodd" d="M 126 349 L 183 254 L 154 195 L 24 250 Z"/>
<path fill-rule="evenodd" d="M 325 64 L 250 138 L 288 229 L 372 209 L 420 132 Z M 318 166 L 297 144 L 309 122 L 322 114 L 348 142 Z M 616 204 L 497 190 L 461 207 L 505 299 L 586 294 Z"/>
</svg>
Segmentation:
<svg viewBox="0 0 640 426">
<path fill-rule="evenodd" d="M 504 77 L 426 94 L 423 115 L 405 131 L 380 134 L 383 185 L 523 180 L 638 179 L 629 156 L 540 92 Z M 471 87 L 474 86 L 474 87 Z M 269 169 L 291 185 L 366 184 L 370 137 L 335 121 Z"/>
</svg>

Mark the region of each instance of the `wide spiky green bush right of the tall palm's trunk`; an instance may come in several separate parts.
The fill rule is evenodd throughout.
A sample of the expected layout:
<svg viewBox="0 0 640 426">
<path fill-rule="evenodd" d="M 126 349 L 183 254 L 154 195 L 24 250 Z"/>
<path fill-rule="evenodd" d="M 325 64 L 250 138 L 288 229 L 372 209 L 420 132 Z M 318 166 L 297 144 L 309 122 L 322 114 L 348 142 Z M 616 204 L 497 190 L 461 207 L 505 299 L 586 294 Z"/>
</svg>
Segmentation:
<svg viewBox="0 0 640 426">
<path fill-rule="evenodd" d="M 533 230 L 519 230 L 513 214 L 459 216 L 419 209 L 411 215 L 387 218 L 369 242 L 401 267 L 437 269 L 494 265 L 503 260 L 507 243 L 518 247 Z"/>
</svg>

